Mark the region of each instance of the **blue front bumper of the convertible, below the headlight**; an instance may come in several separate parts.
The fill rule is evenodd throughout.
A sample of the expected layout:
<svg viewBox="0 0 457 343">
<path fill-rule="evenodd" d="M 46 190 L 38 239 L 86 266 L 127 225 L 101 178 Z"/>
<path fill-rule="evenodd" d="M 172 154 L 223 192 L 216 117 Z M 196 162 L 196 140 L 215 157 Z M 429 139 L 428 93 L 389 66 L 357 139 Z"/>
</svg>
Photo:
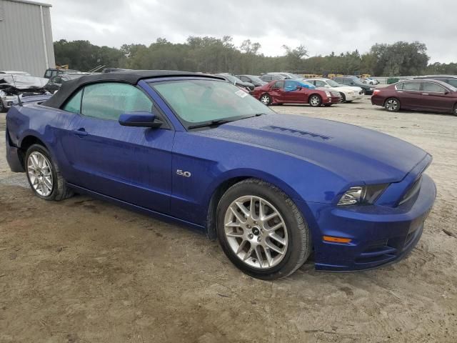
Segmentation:
<svg viewBox="0 0 457 343">
<path fill-rule="evenodd" d="M 415 199 L 398 207 L 379 205 L 336 207 L 308 203 L 317 270 L 348 272 L 397 262 L 421 238 L 433 207 L 436 187 L 426 174 Z M 346 237 L 350 243 L 323 241 L 323 236 Z"/>
</svg>

